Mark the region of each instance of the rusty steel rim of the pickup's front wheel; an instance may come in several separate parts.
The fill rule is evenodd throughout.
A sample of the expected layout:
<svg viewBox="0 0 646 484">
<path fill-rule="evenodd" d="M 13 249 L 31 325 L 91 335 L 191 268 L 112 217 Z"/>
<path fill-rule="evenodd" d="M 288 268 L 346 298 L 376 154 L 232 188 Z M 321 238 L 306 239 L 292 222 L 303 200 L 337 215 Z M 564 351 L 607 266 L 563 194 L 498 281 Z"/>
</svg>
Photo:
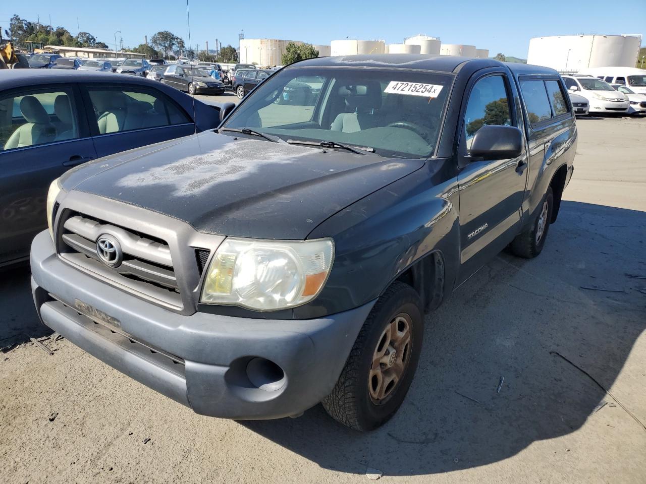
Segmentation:
<svg viewBox="0 0 646 484">
<path fill-rule="evenodd" d="M 401 312 L 386 325 L 372 355 L 368 394 L 375 405 L 390 399 L 404 378 L 412 343 L 413 321 L 408 314 Z"/>
</svg>

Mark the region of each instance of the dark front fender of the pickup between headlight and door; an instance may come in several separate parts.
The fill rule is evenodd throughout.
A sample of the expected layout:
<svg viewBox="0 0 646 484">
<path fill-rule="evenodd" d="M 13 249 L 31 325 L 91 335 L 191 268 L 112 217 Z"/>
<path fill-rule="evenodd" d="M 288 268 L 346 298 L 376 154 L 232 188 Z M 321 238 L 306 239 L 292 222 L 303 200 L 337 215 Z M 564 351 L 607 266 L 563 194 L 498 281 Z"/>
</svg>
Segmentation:
<svg viewBox="0 0 646 484">
<path fill-rule="evenodd" d="M 335 263 L 316 300 L 320 310 L 331 314 L 379 297 L 401 272 L 434 251 L 443 257 L 444 287 L 453 288 L 460 253 L 457 179 L 437 166 L 444 163 L 451 162 L 428 161 L 309 234 L 335 240 Z"/>
</svg>

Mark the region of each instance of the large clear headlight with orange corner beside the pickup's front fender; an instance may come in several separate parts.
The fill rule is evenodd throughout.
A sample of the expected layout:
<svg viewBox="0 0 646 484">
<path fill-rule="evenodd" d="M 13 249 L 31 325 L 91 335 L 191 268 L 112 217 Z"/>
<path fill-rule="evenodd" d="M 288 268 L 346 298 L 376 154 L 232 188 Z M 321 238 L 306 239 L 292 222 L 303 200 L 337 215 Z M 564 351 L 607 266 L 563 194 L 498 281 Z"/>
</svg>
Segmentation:
<svg viewBox="0 0 646 484">
<path fill-rule="evenodd" d="M 227 238 L 209 265 L 200 300 L 259 311 L 302 305 L 318 296 L 333 257 L 332 239 Z"/>
</svg>

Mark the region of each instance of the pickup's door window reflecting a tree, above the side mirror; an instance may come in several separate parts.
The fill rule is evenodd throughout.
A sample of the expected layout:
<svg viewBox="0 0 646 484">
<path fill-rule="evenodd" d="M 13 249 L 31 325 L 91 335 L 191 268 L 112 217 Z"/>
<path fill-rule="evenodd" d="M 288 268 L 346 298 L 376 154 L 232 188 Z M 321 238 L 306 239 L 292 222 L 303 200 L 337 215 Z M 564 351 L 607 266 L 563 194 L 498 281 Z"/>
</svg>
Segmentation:
<svg viewBox="0 0 646 484">
<path fill-rule="evenodd" d="M 512 125 L 512 114 L 503 76 L 488 76 L 475 83 L 464 113 L 466 148 L 477 130 L 489 125 Z"/>
</svg>

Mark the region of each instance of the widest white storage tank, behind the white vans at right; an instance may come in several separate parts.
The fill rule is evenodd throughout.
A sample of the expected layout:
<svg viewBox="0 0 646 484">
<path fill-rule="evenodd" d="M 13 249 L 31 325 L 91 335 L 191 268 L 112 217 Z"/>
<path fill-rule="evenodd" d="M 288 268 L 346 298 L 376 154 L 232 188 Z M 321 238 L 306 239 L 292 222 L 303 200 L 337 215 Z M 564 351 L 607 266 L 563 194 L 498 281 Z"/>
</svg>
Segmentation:
<svg viewBox="0 0 646 484">
<path fill-rule="evenodd" d="M 534 37 L 527 63 L 570 73 L 592 67 L 634 67 L 640 46 L 641 34 Z"/>
</svg>

